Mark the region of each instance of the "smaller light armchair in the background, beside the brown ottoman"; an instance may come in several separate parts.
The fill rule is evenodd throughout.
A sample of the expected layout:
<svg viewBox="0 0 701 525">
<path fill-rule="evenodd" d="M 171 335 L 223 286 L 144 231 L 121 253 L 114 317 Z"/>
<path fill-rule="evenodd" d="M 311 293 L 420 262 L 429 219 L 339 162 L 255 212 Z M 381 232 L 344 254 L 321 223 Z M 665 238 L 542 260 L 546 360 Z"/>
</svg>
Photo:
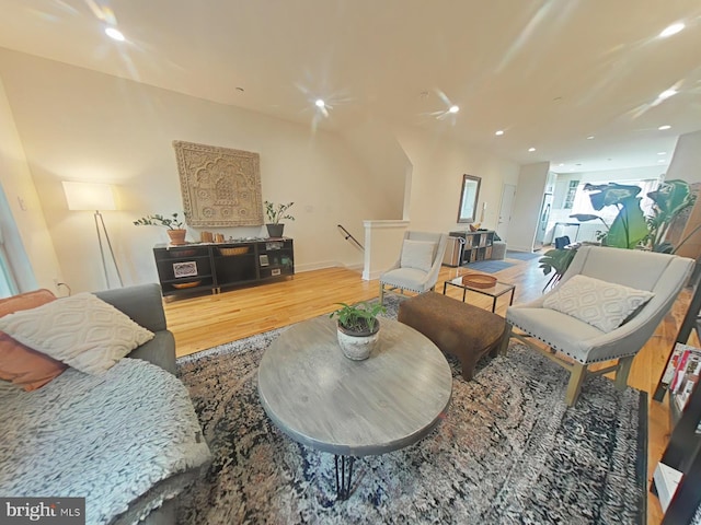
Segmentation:
<svg viewBox="0 0 701 525">
<path fill-rule="evenodd" d="M 384 293 L 410 290 L 427 292 L 436 287 L 438 272 L 446 253 L 448 235 L 445 233 L 404 233 L 402 253 L 389 270 L 380 276 L 380 304 Z"/>
</svg>

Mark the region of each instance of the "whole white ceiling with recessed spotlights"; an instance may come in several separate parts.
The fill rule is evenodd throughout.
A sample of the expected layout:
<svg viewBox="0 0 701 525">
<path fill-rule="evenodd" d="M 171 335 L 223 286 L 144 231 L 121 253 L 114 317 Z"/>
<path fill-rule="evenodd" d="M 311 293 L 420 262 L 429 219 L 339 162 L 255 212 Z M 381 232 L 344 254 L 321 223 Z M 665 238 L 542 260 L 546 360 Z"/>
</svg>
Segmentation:
<svg viewBox="0 0 701 525">
<path fill-rule="evenodd" d="M 701 129 L 699 0 L 0 0 L 0 47 L 311 127 L 422 126 L 519 163 L 550 161 L 556 172 L 664 168 L 677 137 Z M 658 38 L 679 21 L 685 31 Z M 107 38 L 106 25 L 127 40 Z M 655 103 L 673 86 L 676 96 Z M 318 97 L 331 106 L 327 117 L 313 106 Z M 460 112 L 447 114 L 450 104 Z"/>
</svg>

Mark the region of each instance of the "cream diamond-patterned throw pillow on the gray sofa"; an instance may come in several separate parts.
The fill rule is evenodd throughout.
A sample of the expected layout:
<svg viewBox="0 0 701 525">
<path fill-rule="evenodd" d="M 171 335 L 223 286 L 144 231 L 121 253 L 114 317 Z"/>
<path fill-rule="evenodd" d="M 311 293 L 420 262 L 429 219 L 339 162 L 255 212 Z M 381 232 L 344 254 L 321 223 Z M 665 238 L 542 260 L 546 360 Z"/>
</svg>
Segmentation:
<svg viewBox="0 0 701 525">
<path fill-rule="evenodd" d="M 88 374 L 101 374 L 154 335 L 92 293 L 0 318 L 0 330 Z"/>
</svg>

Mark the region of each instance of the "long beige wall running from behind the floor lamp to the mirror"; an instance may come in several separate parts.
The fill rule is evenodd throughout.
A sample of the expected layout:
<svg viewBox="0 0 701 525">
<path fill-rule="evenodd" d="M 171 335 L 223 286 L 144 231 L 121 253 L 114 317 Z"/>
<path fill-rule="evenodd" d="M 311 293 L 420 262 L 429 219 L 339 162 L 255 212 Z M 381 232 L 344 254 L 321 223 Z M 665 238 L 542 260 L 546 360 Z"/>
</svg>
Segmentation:
<svg viewBox="0 0 701 525">
<path fill-rule="evenodd" d="M 286 235 L 295 238 L 300 271 L 363 265 L 336 224 L 358 238 L 368 220 L 464 229 L 457 223 L 464 173 L 482 177 L 478 209 L 487 202 L 483 225 L 495 228 L 502 187 L 519 178 L 514 162 L 421 130 L 366 122 L 340 136 L 1 48 L 0 79 L 73 292 L 105 281 L 92 213 L 67 210 L 61 180 L 114 186 L 119 211 L 104 212 L 104 220 L 125 284 L 154 281 L 151 248 L 166 241 L 165 232 L 133 221 L 182 210 L 173 140 L 261 154 L 263 198 L 296 202 Z M 264 228 L 219 232 L 254 236 Z M 191 230 L 191 240 L 198 236 Z"/>
</svg>

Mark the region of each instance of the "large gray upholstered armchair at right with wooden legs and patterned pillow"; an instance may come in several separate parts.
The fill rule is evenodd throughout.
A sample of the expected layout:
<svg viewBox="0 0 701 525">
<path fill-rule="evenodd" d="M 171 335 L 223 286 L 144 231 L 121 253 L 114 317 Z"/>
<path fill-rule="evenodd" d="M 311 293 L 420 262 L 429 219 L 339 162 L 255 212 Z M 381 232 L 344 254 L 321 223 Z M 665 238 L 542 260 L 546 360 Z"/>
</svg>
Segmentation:
<svg viewBox="0 0 701 525">
<path fill-rule="evenodd" d="M 616 371 L 616 387 L 623 389 L 635 354 L 674 304 L 692 267 L 693 260 L 674 255 L 584 246 L 552 291 L 507 310 L 509 337 L 570 371 L 568 406 L 576 402 L 587 373 Z M 549 348 L 532 345 L 532 339 Z M 587 370 L 611 360 L 617 364 Z"/>
</svg>

